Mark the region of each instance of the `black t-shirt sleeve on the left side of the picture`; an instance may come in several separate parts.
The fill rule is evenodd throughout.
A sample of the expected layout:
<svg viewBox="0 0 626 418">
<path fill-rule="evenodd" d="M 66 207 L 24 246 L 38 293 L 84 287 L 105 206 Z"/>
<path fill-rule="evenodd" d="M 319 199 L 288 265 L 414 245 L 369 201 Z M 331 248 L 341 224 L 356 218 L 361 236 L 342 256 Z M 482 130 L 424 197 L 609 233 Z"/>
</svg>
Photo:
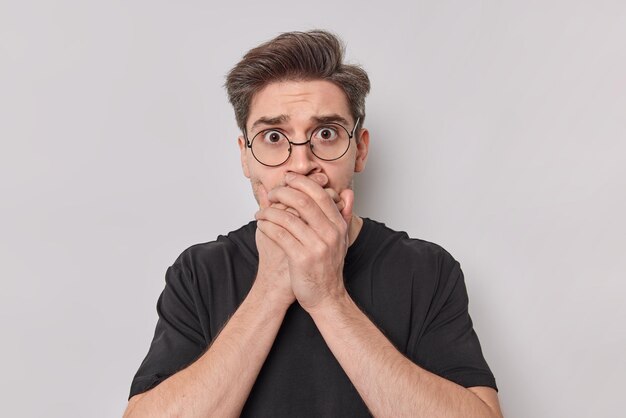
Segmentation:
<svg viewBox="0 0 626 418">
<path fill-rule="evenodd" d="M 200 320 L 205 312 L 189 276 L 180 260 L 167 269 L 154 338 L 133 379 L 129 399 L 193 363 L 208 345 Z"/>
</svg>

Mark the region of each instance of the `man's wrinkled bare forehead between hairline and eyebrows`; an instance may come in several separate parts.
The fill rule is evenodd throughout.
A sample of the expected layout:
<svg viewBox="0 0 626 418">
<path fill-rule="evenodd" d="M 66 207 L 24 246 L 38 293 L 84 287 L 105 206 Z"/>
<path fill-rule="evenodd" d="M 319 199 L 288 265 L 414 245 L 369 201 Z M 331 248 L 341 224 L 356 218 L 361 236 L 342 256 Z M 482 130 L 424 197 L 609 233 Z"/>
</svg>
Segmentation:
<svg viewBox="0 0 626 418">
<path fill-rule="evenodd" d="M 343 90 L 325 80 L 281 81 L 257 92 L 250 103 L 247 126 L 259 118 L 280 115 L 289 120 L 336 114 L 351 120 L 348 98 Z"/>
</svg>

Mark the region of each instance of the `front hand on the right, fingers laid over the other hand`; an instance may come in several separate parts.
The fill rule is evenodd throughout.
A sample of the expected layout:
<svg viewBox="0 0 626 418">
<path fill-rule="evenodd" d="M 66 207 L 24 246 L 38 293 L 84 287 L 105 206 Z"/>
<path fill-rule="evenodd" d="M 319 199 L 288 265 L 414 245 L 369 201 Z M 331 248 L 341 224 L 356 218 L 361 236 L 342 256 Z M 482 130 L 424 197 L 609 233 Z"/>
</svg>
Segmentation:
<svg viewBox="0 0 626 418">
<path fill-rule="evenodd" d="M 275 207 L 257 212 L 258 228 L 287 256 L 295 297 L 304 309 L 345 294 L 343 262 L 348 247 L 348 225 L 354 194 L 338 195 L 338 209 L 331 193 L 313 179 L 291 173 L 286 186 L 270 191 L 272 204 L 293 208 L 297 215 Z"/>
</svg>

